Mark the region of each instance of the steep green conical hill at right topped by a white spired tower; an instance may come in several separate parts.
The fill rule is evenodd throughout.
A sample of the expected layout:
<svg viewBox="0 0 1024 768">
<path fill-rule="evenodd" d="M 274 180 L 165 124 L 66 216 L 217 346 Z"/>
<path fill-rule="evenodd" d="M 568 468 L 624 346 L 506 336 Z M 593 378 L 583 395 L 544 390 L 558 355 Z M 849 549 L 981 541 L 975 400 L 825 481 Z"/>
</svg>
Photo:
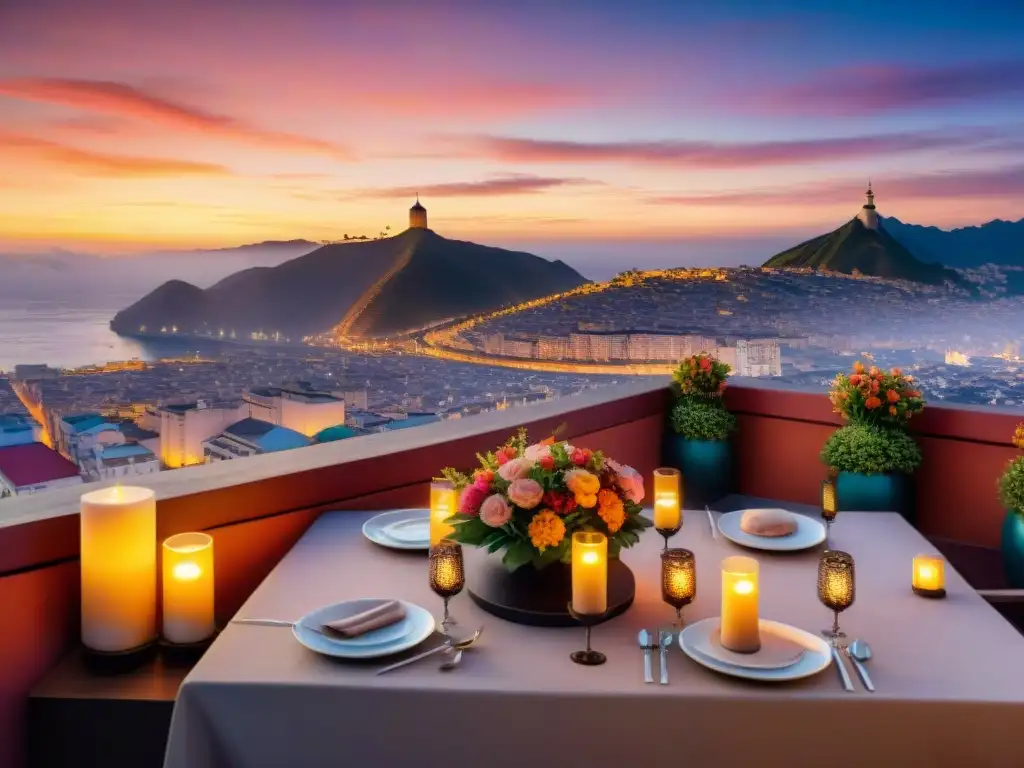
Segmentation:
<svg viewBox="0 0 1024 768">
<path fill-rule="evenodd" d="M 959 276 L 941 264 L 926 263 L 893 238 L 880 221 L 874 196 L 867 189 L 861 212 L 827 234 L 801 243 L 765 262 L 768 267 L 803 267 L 871 275 L 888 280 L 941 285 L 958 283 Z"/>
</svg>

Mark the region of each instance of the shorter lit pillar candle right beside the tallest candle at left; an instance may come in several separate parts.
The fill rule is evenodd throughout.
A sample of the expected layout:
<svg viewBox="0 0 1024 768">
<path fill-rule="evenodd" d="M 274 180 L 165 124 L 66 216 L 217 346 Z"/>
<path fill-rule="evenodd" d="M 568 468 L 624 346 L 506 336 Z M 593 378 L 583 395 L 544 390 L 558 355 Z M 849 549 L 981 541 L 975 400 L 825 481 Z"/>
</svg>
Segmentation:
<svg viewBox="0 0 1024 768">
<path fill-rule="evenodd" d="M 164 637 L 198 643 L 213 635 L 213 539 L 178 534 L 164 542 Z"/>
</svg>

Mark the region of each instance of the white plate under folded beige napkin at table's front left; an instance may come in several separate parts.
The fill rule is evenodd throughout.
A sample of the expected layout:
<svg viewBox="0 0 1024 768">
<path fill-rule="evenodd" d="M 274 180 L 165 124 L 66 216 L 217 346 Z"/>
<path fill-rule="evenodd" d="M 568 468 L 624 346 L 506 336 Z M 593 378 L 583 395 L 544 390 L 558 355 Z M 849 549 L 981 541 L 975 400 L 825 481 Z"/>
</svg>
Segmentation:
<svg viewBox="0 0 1024 768">
<path fill-rule="evenodd" d="M 343 603 L 335 603 L 324 608 L 307 613 L 302 616 L 292 628 L 295 639 L 302 643 L 309 650 L 323 653 L 337 658 L 377 658 L 379 656 L 389 656 L 392 653 L 400 653 L 416 645 L 419 645 L 434 631 L 434 616 L 426 608 L 400 600 L 406 608 L 406 617 L 401 622 L 396 622 L 389 627 L 383 627 L 375 632 L 368 632 L 351 640 L 334 638 L 323 635 L 310 629 L 321 628 L 328 622 L 335 622 L 345 616 L 350 616 L 360 610 L 367 610 L 384 602 L 383 598 L 360 598 L 358 600 L 347 600 Z M 392 627 L 400 627 L 400 634 L 395 637 L 376 643 L 356 643 L 354 641 L 367 638 L 376 632 L 389 630 Z M 386 635 L 385 635 L 386 637 Z"/>
</svg>

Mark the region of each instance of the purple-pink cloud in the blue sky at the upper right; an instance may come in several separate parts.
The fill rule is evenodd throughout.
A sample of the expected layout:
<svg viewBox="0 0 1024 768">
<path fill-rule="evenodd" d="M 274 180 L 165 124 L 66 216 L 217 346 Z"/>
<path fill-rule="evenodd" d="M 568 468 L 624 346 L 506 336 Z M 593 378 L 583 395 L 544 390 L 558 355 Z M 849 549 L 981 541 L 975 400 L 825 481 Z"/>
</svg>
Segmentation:
<svg viewBox="0 0 1024 768">
<path fill-rule="evenodd" d="M 1024 94 L 1024 60 L 965 61 L 941 68 L 896 65 L 830 70 L 748 104 L 776 114 L 870 115 Z"/>
</svg>

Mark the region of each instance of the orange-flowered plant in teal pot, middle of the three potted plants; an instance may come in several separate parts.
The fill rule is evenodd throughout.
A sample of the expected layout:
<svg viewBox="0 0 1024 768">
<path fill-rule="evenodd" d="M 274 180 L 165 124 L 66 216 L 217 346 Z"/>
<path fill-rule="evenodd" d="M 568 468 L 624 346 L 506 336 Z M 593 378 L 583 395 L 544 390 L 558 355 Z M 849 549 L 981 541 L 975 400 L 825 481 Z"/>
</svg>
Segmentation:
<svg viewBox="0 0 1024 768">
<path fill-rule="evenodd" d="M 836 377 L 828 398 L 848 422 L 821 451 L 837 475 L 839 508 L 895 511 L 909 518 L 909 476 L 921 464 L 921 450 L 907 434 L 907 422 L 925 408 L 913 377 L 898 368 L 865 370 L 858 360 L 849 376 Z"/>
</svg>

